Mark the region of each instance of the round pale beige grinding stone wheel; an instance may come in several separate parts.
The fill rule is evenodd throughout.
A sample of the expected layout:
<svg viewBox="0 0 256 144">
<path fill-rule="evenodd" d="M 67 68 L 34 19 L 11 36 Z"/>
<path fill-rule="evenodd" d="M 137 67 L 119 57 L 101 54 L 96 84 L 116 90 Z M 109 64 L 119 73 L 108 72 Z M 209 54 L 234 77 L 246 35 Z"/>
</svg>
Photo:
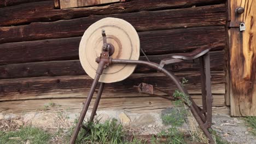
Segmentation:
<svg viewBox="0 0 256 144">
<path fill-rule="evenodd" d="M 86 74 L 92 79 L 96 75 L 103 46 L 102 29 L 107 35 L 107 43 L 114 46 L 113 59 L 139 59 L 139 37 L 132 25 L 122 19 L 107 17 L 86 29 L 79 46 L 79 58 Z M 100 82 L 111 83 L 126 79 L 135 70 L 136 65 L 112 64 L 103 70 Z"/>
</svg>

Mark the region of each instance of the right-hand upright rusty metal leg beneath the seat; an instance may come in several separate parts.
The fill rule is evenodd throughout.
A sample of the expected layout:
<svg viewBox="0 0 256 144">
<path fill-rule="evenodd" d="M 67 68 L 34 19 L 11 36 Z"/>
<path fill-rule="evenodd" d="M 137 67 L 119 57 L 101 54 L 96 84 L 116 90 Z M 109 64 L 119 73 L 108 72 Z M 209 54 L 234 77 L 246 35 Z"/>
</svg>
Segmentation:
<svg viewBox="0 0 256 144">
<path fill-rule="evenodd" d="M 210 71 L 210 55 L 206 53 L 205 61 L 205 75 L 206 75 L 206 103 L 207 103 L 207 127 L 212 125 L 212 88 L 211 88 L 211 71 Z"/>
</svg>

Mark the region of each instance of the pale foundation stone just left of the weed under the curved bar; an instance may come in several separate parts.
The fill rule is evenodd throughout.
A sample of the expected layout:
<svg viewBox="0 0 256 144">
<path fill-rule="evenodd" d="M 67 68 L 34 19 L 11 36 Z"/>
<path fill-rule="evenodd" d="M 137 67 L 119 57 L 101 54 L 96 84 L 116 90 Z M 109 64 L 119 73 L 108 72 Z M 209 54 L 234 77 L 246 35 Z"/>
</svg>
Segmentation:
<svg viewBox="0 0 256 144">
<path fill-rule="evenodd" d="M 139 127 L 143 125 L 149 125 L 155 123 L 155 118 L 152 115 L 144 114 L 139 116 L 139 118 L 135 119 L 134 122 L 132 122 L 132 127 Z"/>
</svg>

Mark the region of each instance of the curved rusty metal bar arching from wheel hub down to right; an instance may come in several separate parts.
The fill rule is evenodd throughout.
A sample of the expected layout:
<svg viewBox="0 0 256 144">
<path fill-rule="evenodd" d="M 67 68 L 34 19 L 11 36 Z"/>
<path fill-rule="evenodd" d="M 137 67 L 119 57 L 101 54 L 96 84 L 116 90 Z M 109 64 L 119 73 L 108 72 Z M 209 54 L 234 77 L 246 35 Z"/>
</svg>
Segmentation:
<svg viewBox="0 0 256 144">
<path fill-rule="evenodd" d="M 151 68 L 154 68 L 168 77 L 175 83 L 175 85 L 178 87 L 178 90 L 186 95 L 189 96 L 189 93 L 185 90 L 185 88 L 182 86 L 181 82 L 178 80 L 178 78 L 171 72 L 167 71 L 164 68 L 161 68 L 159 64 L 153 63 L 153 62 L 146 62 L 146 61 L 137 61 L 137 60 L 127 60 L 127 59 L 112 59 L 112 63 L 117 64 L 139 64 L 139 65 L 147 65 Z M 202 129 L 203 133 L 208 137 L 209 142 L 214 143 L 214 140 L 212 139 L 212 136 L 208 129 L 205 127 L 203 123 L 203 118 L 201 115 L 199 115 L 199 108 L 195 104 L 194 100 L 189 96 L 189 100 L 192 102 L 191 105 L 188 105 L 189 109 L 191 110 L 192 114 L 194 115 L 197 123 L 199 124 L 199 127 Z"/>
</svg>

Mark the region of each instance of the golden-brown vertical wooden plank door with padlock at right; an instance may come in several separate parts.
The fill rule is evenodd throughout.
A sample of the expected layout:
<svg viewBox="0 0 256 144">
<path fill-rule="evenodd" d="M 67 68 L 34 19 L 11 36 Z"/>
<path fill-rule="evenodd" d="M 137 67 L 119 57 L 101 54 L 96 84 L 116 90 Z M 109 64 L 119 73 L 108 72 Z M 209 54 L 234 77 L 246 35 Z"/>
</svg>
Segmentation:
<svg viewBox="0 0 256 144">
<path fill-rule="evenodd" d="M 231 116 L 256 116 L 256 0 L 230 0 L 231 22 L 246 30 L 229 29 L 229 93 Z M 237 14 L 236 8 L 245 8 Z"/>
</svg>

